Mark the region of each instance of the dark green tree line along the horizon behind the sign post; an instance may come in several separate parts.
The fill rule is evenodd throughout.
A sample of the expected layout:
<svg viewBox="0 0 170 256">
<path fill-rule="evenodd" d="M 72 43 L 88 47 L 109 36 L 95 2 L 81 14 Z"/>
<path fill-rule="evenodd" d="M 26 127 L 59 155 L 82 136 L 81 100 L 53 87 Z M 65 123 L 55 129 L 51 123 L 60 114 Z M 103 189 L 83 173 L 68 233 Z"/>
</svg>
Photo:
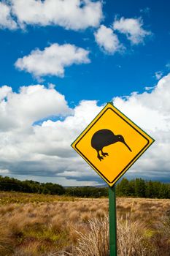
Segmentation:
<svg viewBox="0 0 170 256">
<path fill-rule="evenodd" d="M 108 197 L 107 187 L 62 187 L 50 182 L 19 181 L 16 178 L 0 176 L 1 191 L 38 193 L 45 195 L 69 195 L 74 197 Z M 160 181 L 145 181 L 123 178 L 116 185 L 117 197 L 170 198 L 170 184 Z"/>
</svg>

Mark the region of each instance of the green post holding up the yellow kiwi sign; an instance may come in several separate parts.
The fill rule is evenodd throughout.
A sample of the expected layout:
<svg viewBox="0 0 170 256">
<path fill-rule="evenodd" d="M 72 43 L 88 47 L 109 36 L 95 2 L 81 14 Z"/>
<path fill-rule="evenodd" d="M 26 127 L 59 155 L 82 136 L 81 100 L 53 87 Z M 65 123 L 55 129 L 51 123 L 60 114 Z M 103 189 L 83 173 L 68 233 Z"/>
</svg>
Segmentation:
<svg viewBox="0 0 170 256">
<path fill-rule="evenodd" d="M 117 256 L 115 185 L 113 187 L 109 187 L 109 249 L 110 256 Z"/>
</svg>

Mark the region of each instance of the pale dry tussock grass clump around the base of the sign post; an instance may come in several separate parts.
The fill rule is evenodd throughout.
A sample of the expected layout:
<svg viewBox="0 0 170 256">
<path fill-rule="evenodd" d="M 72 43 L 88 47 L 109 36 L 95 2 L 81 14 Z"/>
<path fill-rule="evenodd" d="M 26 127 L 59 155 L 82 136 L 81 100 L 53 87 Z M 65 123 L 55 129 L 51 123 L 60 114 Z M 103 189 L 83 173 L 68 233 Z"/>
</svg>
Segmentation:
<svg viewBox="0 0 170 256">
<path fill-rule="evenodd" d="M 90 219 L 87 232 L 77 231 L 77 246 L 72 254 L 62 252 L 63 255 L 77 256 L 109 256 L 109 219 Z M 117 220 L 117 252 L 119 256 L 148 256 L 154 255 L 144 238 L 146 227 L 140 222 L 133 222 L 131 218 Z M 61 255 L 62 255 L 61 254 Z M 60 255 L 60 254 L 59 254 Z"/>
</svg>

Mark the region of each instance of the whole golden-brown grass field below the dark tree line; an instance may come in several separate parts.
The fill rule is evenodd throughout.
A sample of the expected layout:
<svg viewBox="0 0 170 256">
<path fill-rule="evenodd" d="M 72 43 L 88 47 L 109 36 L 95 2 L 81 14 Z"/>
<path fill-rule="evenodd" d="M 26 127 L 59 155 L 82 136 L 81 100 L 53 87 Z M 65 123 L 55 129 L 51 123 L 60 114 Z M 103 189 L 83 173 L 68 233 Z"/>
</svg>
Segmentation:
<svg viewBox="0 0 170 256">
<path fill-rule="evenodd" d="M 109 256 L 108 200 L 0 192 L 1 256 Z M 170 255 L 170 200 L 117 198 L 119 256 Z"/>
</svg>

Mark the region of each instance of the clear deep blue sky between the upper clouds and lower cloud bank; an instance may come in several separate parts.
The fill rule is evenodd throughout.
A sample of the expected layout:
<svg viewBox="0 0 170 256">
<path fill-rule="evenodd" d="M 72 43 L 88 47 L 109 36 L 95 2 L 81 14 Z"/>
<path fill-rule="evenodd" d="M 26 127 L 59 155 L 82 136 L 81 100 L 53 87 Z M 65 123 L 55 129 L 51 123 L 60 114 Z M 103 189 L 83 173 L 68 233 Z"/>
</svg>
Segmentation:
<svg viewBox="0 0 170 256">
<path fill-rule="evenodd" d="M 128 95 L 131 91 L 141 92 L 145 86 L 156 83 L 155 72 L 167 72 L 166 64 L 170 60 L 167 4 L 168 1 L 107 1 L 103 5 L 106 18 L 101 22 L 105 26 L 112 26 L 116 15 L 142 17 L 144 29 L 152 32 L 139 45 L 131 45 L 125 35 L 120 34 L 121 42 L 127 49 L 113 56 L 104 54 L 98 48 L 93 36 L 96 29 L 92 28 L 83 31 L 65 30 L 58 26 L 28 26 L 26 31 L 1 29 L 1 84 L 8 84 L 18 91 L 22 85 L 36 83 L 30 74 L 15 69 L 15 61 L 35 48 L 43 50 L 47 45 L 58 42 L 90 50 L 90 64 L 66 68 L 64 78 L 44 78 L 44 84 L 57 84 L 58 91 L 66 96 L 69 103 L 77 104 L 81 99 L 107 102 L 113 96 Z"/>
</svg>

